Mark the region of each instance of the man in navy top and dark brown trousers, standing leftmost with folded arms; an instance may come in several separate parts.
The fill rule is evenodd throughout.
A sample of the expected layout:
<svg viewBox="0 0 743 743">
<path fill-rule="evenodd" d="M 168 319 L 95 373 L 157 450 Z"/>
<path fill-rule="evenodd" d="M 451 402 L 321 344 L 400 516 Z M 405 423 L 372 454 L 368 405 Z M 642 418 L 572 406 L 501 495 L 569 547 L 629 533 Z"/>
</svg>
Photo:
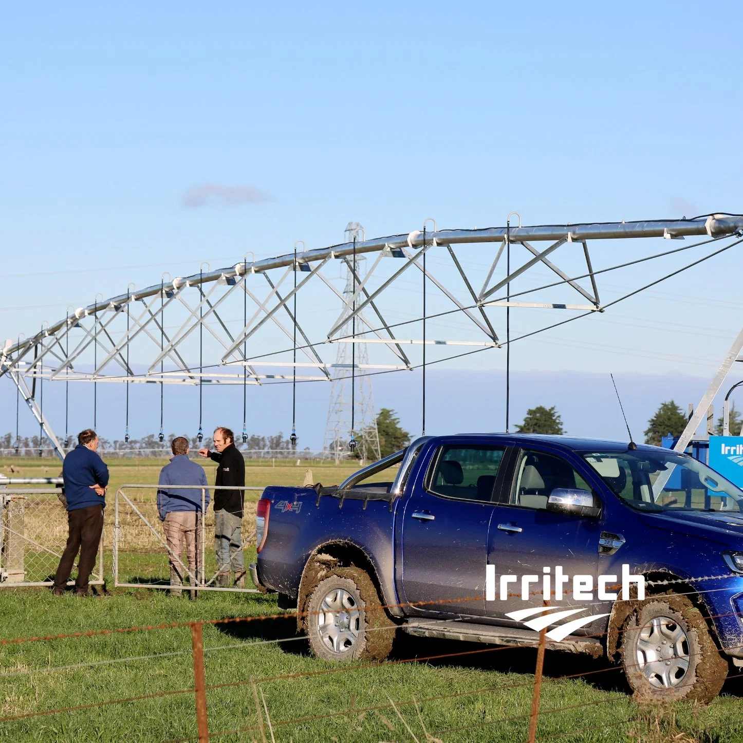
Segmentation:
<svg viewBox="0 0 743 743">
<path fill-rule="evenodd" d="M 77 447 L 65 457 L 62 479 L 67 499 L 68 538 L 54 577 L 53 593 L 61 596 L 70 580 L 72 566 L 80 551 L 75 592 L 88 595 L 88 580 L 103 533 L 103 509 L 106 507 L 108 467 L 97 455 L 98 436 L 93 429 L 77 435 Z"/>
</svg>

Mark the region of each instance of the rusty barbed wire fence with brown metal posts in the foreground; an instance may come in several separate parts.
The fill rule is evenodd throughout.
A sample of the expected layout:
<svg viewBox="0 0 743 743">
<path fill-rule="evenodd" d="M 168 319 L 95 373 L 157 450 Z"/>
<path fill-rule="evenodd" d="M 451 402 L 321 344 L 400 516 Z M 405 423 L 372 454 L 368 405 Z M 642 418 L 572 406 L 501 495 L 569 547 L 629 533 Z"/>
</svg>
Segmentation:
<svg viewBox="0 0 743 743">
<path fill-rule="evenodd" d="M 729 577 L 729 576 L 728 576 Z M 704 576 L 699 577 L 697 580 L 709 580 L 710 577 Z M 669 583 L 668 581 L 657 582 L 657 583 Z M 689 583 L 689 580 L 685 581 Z M 658 586 L 659 588 L 661 586 Z M 710 591 L 722 590 L 719 588 L 712 588 Z M 426 604 L 441 603 L 458 603 L 463 600 L 471 600 L 473 597 L 467 597 L 467 599 L 441 599 L 441 600 L 429 600 L 415 602 L 415 606 L 425 606 Z M 479 597 L 482 598 L 482 597 Z M 637 600 L 634 601 L 634 605 L 637 606 L 639 603 Z M 409 607 L 411 604 L 395 604 L 399 607 Z M 366 606 L 365 610 L 368 612 L 383 611 L 389 608 L 389 606 Z M 302 616 L 309 616 L 313 612 L 302 612 Z M 322 613 L 322 612 L 314 612 Z M 322 724 L 339 719 L 351 719 L 351 718 L 363 718 L 367 714 L 373 714 L 378 720 L 381 721 L 389 730 L 395 730 L 396 735 L 401 735 L 405 738 L 412 739 L 418 742 L 419 736 L 421 740 L 426 740 L 429 743 L 435 741 L 441 741 L 439 736 L 451 736 L 457 733 L 462 734 L 474 734 L 477 730 L 483 730 L 485 728 L 490 729 L 491 726 L 495 725 L 511 725 L 513 727 L 508 730 L 513 730 L 513 736 L 510 740 L 524 741 L 528 743 L 534 743 L 541 740 L 550 739 L 579 739 L 580 736 L 588 736 L 586 739 L 591 738 L 591 734 L 599 734 L 601 730 L 606 730 L 608 727 L 623 727 L 628 730 L 628 735 L 631 733 L 636 736 L 637 740 L 646 740 L 643 737 L 643 731 L 646 730 L 647 726 L 651 724 L 652 720 L 649 721 L 647 710 L 643 710 L 642 707 L 633 707 L 629 704 L 629 700 L 626 694 L 619 691 L 606 692 L 606 696 L 601 700 L 591 700 L 580 702 L 577 704 L 559 704 L 557 706 L 542 707 L 542 695 L 545 687 L 552 688 L 559 682 L 565 682 L 574 680 L 577 678 L 585 678 L 588 680 L 603 677 L 603 675 L 616 674 L 620 670 L 620 666 L 606 665 L 598 669 L 583 670 L 580 672 L 566 673 L 560 675 L 551 675 L 548 678 L 543 678 L 543 666 L 545 662 L 545 637 L 548 629 L 545 627 L 539 633 L 533 633 L 533 642 L 526 643 L 520 648 L 522 652 L 526 652 L 529 649 L 532 651 L 536 649 L 536 661 L 534 666 L 533 678 L 528 678 L 524 681 L 516 681 L 513 683 L 499 683 L 492 684 L 486 687 L 477 687 L 475 689 L 449 692 L 438 695 L 406 695 L 393 699 L 386 687 L 383 686 L 380 679 L 380 689 L 384 690 L 383 695 L 386 701 L 382 701 L 380 704 L 371 704 L 366 706 L 358 706 L 356 704 L 355 695 L 351 698 L 350 704 L 343 706 L 341 709 L 331 710 L 319 710 L 317 713 L 311 715 L 299 715 L 299 716 L 287 716 L 285 718 L 276 716 L 276 699 L 273 699 L 273 709 L 267 703 L 264 688 L 267 684 L 273 682 L 288 682 L 294 683 L 296 681 L 328 678 L 338 676 L 340 678 L 349 677 L 352 678 L 355 674 L 360 672 L 369 672 L 377 674 L 382 673 L 383 669 L 394 668 L 395 666 L 402 666 L 410 663 L 432 663 L 435 661 L 441 662 L 450 660 L 452 658 L 462 658 L 466 656 L 480 656 L 493 658 L 494 655 L 502 652 L 513 652 L 515 648 L 505 646 L 487 646 L 484 648 L 478 647 L 472 650 L 462 650 L 461 652 L 443 652 L 443 653 L 431 653 L 424 656 L 415 656 L 412 658 L 393 658 L 392 660 L 386 660 L 374 663 L 353 663 L 350 665 L 332 666 L 330 668 L 323 669 L 312 669 L 307 671 L 295 671 L 278 673 L 267 676 L 257 676 L 247 674 L 245 678 L 239 678 L 234 681 L 225 681 L 221 683 L 207 683 L 207 663 L 205 658 L 210 657 L 211 654 L 223 652 L 226 650 L 234 650 L 237 648 L 241 649 L 256 649 L 265 647 L 268 644 L 281 644 L 293 642 L 296 640 L 302 640 L 302 637 L 296 635 L 290 635 L 288 637 L 279 637 L 270 640 L 253 640 L 244 643 L 229 643 L 222 645 L 204 645 L 204 626 L 224 626 L 229 624 L 241 623 L 241 625 L 248 625 L 255 622 L 265 622 L 271 620 L 285 620 L 288 614 L 250 614 L 239 617 L 219 617 L 211 620 L 198 620 L 198 621 L 184 621 L 184 622 L 171 622 L 152 624 L 145 626 L 129 626 L 129 627 L 116 627 L 113 629 L 97 629 L 88 632 L 70 632 L 59 635 L 49 635 L 44 637 L 16 637 L 16 638 L 5 638 L 0 640 L 0 647 L 3 646 L 19 646 L 27 643 L 41 643 L 50 642 L 52 640 L 69 640 L 77 639 L 80 640 L 82 637 L 104 637 L 110 635 L 112 637 L 120 635 L 129 635 L 135 632 L 160 632 L 167 629 L 187 629 L 189 632 L 189 647 L 185 649 L 178 649 L 170 652 L 155 653 L 152 655 L 129 655 L 126 657 L 119 658 L 107 658 L 98 659 L 95 661 L 81 661 L 74 664 L 66 664 L 60 666 L 38 666 L 28 667 L 24 669 L 5 669 L 0 670 L 0 678 L 6 678 L 9 676 L 18 675 L 29 675 L 41 672 L 53 672 L 66 669 L 93 669 L 108 663 L 122 663 L 122 662 L 140 662 L 147 663 L 154 661 L 159 658 L 189 658 L 189 666 L 192 669 L 192 684 L 181 686 L 175 689 L 157 690 L 147 694 L 140 695 L 127 695 L 121 698 L 112 698 L 102 701 L 91 701 L 85 704 L 74 704 L 67 707 L 59 707 L 53 709 L 44 710 L 33 710 L 18 714 L 9 714 L 0 716 L 0 724 L 12 724 L 13 722 L 19 722 L 23 720 L 29 720 L 34 718 L 48 718 L 49 716 L 70 714 L 70 713 L 85 713 L 87 710 L 92 710 L 97 707 L 111 707 L 120 704 L 132 704 L 135 702 L 143 702 L 146 700 L 153 700 L 159 698 L 186 698 L 192 697 L 194 701 L 193 722 L 195 724 L 195 733 L 188 736 L 172 739 L 170 743 L 181 743 L 185 741 L 196 740 L 198 742 L 209 741 L 210 739 L 218 739 L 226 736 L 250 736 L 251 740 L 260 741 L 261 743 L 267 743 L 270 740 L 275 743 L 277 734 L 282 731 L 287 731 L 294 734 L 299 730 L 303 730 L 308 724 Z M 729 612 L 727 614 L 719 614 L 716 617 L 708 617 L 710 620 L 726 617 L 726 616 L 739 616 L 738 612 Z M 381 629 L 381 628 L 380 628 Z M 368 629 L 366 632 L 379 631 L 376 629 Z M 637 628 L 631 628 L 624 626 L 620 629 L 615 630 L 619 635 L 626 632 L 638 632 Z M 605 641 L 608 632 L 603 632 L 591 637 L 599 638 Z M 727 648 L 730 652 L 733 650 Z M 722 652 L 718 650 L 718 652 Z M 682 656 L 688 658 L 689 656 Z M 209 666 L 211 667 L 211 666 Z M 217 666 L 218 667 L 218 666 Z M 627 664 L 625 663 L 625 669 L 632 669 L 633 667 L 640 667 L 640 663 Z M 726 681 L 741 678 L 737 673 L 733 673 L 727 676 Z M 682 681 L 677 687 L 677 690 L 683 689 L 685 684 L 691 684 L 692 682 Z M 353 681 L 348 682 L 349 687 L 353 687 Z M 229 727 L 226 729 L 211 729 L 209 723 L 210 706 L 208 704 L 209 698 L 212 698 L 212 704 L 219 705 L 218 696 L 215 696 L 215 692 L 220 690 L 224 692 L 229 688 L 244 688 L 246 694 L 243 697 L 244 705 L 246 707 L 247 724 L 239 725 L 237 727 Z M 300 689 L 306 689 L 306 685 L 302 687 L 296 687 L 296 695 L 301 695 Z M 515 690 L 521 690 L 521 692 L 529 692 L 531 690 L 531 699 L 528 709 L 525 708 L 519 710 L 517 713 L 510 714 L 494 714 L 496 712 L 508 711 L 507 704 L 513 701 L 513 697 L 508 695 L 508 692 L 514 692 Z M 291 698 L 291 692 L 288 695 L 282 695 L 282 697 Z M 481 698 L 487 700 L 488 707 L 487 713 L 484 714 L 484 718 L 473 721 L 473 719 L 465 718 L 461 726 L 455 727 L 440 727 L 438 729 L 432 728 L 430 722 L 430 713 L 436 709 L 436 705 L 441 705 L 445 701 L 464 701 L 467 698 Z M 505 705 L 505 709 L 502 709 L 502 705 L 498 704 L 497 701 L 502 700 L 502 704 Z M 717 698 L 714 700 L 710 707 L 720 709 L 723 705 L 729 703 L 729 698 Z M 560 724 L 561 716 L 565 713 L 573 711 L 585 710 L 587 713 L 594 707 L 600 704 L 611 704 L 617 707 L 617 711 L 620 711 L 621 716 L 611 718 L 611 721 L 604 722 L 602 724 L 590 724 L 583 727 L 571 727 L 569 730 L 554 730 L 548 728 L 554 728 Z M 728 704 L 728 707 L 733 708 L 733 711 L 741 712 L 739 704 Z M 500 708 L 500 709 L 499 709 Z M 426 726 L 426 720 L 424 718 L 424 712 L 429 717 L 429 725 Z M 462 714 L 466 715 L 465 708 L 460 706 Z M 462 711 L 464 710 L 464 711 Z M 727 710 L 727 707 L 725 707 Z M 406 714 L 403 714 L 406 712 Z M 395 722 L 391 722 L 390 718 Z M 655 721 L 658 723 L 658 721 Z M 714 729 L 727 729 L 731 725 L 737 722 L 743 722 L 743 716 L 740 719 L 733 721 L 720 719 L 714 724 L 709 724 L 704 727 L 696 729 L 694 732 L 702 733 Z M 402 726 L 400 728 L 400 725 Z M 546 726 L 546 727 L 545 727 Z M 634 727 L 632 727 L 634 726 Z M 631 729 L 630 729 L 631 728 Z M 400 730 L 403 732 L 400 733 Z M 0 734 L 2 728 L 0 727 Z M 542 734 L 540 734 L 542 733 Z M 669 739 L 672 739 L 669 737 Z M 733 738 L 731 738 L 732 740 Z M 680 737 L 675 740 L 682 740 Z M 693 740 L 693 739 L 692 739 Z"/>
</svg>

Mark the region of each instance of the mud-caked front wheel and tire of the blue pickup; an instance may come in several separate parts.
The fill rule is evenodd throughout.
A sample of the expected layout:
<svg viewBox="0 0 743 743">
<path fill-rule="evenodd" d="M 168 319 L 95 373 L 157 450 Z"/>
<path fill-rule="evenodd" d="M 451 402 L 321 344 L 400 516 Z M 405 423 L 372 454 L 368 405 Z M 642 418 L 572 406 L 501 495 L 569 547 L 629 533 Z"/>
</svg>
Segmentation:
<svg viewBox="0 0 743 743">
<path fill-rule="evenodd" d="M 637 607 L 620 638 L 621 662 L 635 699 L 707 704 L 727 675 L 701 612 L 685 596 L 663 594 Z"/>
</svg>

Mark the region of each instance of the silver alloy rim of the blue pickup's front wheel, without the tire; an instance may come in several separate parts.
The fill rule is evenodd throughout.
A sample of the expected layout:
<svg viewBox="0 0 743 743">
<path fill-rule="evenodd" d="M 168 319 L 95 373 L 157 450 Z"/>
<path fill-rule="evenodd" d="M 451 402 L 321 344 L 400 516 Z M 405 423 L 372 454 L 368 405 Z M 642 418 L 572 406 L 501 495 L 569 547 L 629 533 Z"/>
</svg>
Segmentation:
<svg viewBox="0 0 743 743">
<path fill-rule="evenodd" d="M 681 683 L 689 669 L 689 638 L 670 617 L 655 617 L 640 629 L 637 665 L 656 689 Z"/>
</svg>

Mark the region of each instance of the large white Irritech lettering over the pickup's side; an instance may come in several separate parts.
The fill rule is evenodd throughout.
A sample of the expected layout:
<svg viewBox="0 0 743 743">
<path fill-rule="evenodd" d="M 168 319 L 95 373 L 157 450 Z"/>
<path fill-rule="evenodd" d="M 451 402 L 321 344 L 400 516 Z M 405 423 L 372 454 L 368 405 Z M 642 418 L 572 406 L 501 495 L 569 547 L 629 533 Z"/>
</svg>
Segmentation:
<svg viewBox="0 0 743 743">
<path fill-rule="evenodd" d="M 496 580 L 496 566 L 486 565 L 485 574 L 485 600 L 495 601 L 500 599 L 505 601 L 519 595 L 521 588 L 522 600 L 528 601 L 541 594 L 545 601 L 556 600 L 562 601 L 564 598 L 571 599 L 571 595 L 565 589 L 572 588 L 572 600 L 574 601 L 594 601 L 594 589 L 597 588 L 598 600 L 614 601 L 618 598 L 617 591 L 611 589 L 620 588 L 622 600 L 645 598 L 645 577 L 643 575 L 632 575 L 629 572 L 629 565 L 622 565 L 622 580 L 619 583 L 616 575 L 600 575 L 594 583 L 592 575 L 574 575 L 572 578 L 562 571 L 562 565 L 556 565 L 554 571 L 552 568 L 542 568 L 542 575 L 522 575 L 519 586 L 519 577 L 516 575 L 502 575 L 500 580 Z M 541 586 L 539 583 L 541 582 Z M 635 585 L 637 593 L 632 595 L 630 587 Z M 496 591 L 496 588 L 499 589 Z M 541 591 L 539 590 L 541 588 Z M 497 593 L 497 596 L 496 596 Z M 568 594 L 568 595 L 565 595 Z"/>
</svg>

